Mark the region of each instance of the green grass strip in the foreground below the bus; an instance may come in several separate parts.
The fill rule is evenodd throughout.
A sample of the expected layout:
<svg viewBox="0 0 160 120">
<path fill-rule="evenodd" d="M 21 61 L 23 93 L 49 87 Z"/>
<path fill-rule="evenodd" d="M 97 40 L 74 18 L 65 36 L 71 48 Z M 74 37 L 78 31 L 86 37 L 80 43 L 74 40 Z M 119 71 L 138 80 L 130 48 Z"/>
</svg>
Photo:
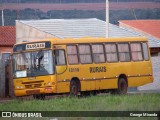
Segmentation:
<svg viewBox="0 0 160 120">
<path fill-rule="evenodd" d="M 98 95 L 81 98 L 55 98 L 49 100 L 13 100 L 0 104 L 0 111 L 159 111 L 160 94 L 136 94 L 126 96 Z M 43 118 L 42 118 L 43 119 Z M 53 118 L 49 118 L 53 119 Z M 66 119 L 66 118 L 58 118 Z M 75 119 L 75 118 L 68 118 Z M 76 118 L 92 120 L 93 118 Z M 94 118 L 105 120 L 106 118 Z M 112 118 L 107 118 L 112 119 Z M 115 118 L 114 118 L 115 119 Z M 116 118 L 121 120 L 124 118 Z M 137 119 L 125 118 L 125 119 Z M 147 118 L 139 118 L 150 120 Z M 153 120 L 156 118 L 152 118 Z M 41 119 L 40 119 L 41 120 Z M 53 119 L 54 120 L 54 119 Z"/>
</svg>

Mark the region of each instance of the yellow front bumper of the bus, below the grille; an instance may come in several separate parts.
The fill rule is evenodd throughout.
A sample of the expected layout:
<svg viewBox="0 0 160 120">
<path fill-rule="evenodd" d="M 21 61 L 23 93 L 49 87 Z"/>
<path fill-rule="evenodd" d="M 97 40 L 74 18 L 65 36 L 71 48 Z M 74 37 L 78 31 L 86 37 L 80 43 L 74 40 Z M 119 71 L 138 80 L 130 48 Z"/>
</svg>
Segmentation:
<svg viewBox="0 0 160 120">
<path fill-rule="evenodd" d="M 15 89 L 15 96 L 26 96 L 34 94 L 49 94 L 56 93 L 55 87 L 44 87 L 44 88 L 35 88 L 35 89 Z"/>
</svg>

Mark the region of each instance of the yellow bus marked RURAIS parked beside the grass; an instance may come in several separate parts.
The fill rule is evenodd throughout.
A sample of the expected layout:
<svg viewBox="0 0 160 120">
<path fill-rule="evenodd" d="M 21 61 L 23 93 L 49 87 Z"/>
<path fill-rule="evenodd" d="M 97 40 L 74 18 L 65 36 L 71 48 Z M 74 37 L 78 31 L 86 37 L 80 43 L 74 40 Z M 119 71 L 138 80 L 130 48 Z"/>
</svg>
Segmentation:
<svg viewBox="0 0 160 120">
<path fill-rule="evenodd" d="M 153 82 L 146 38 L 67 38 L 25 42 L 13 48 L 15 96 L 109 90 Z"/>
</svg>

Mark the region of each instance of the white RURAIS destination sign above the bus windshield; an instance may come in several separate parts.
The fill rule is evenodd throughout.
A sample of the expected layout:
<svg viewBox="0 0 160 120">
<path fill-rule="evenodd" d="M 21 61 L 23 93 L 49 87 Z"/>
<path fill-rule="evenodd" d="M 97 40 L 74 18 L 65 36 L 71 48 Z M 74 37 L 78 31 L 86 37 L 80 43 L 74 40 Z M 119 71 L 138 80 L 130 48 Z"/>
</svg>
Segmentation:
<svg viewBox="0 0 160 120">
<path fill-rule="evenodd" d="M 45 43 L 26 44 L 26 50 L 45 48 Z"/>
</svg>

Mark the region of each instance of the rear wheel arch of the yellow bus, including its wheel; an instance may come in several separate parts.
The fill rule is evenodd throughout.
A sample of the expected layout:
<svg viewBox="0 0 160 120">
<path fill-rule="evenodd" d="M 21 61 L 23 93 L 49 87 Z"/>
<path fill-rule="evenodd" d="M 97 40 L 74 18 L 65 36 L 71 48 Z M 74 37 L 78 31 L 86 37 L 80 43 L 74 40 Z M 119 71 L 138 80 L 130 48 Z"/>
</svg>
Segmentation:
<svg viewBox="0 0 160 120">
<path fill-rule="evenodd" d="M 127 76 L 125 74 L 121 74 L 118 77 L 118 88 L 117 88 L 117 93 L 124 95 L 127 93 L 127 89 L 128 89 L 128 79 Z"/>
</svg>

